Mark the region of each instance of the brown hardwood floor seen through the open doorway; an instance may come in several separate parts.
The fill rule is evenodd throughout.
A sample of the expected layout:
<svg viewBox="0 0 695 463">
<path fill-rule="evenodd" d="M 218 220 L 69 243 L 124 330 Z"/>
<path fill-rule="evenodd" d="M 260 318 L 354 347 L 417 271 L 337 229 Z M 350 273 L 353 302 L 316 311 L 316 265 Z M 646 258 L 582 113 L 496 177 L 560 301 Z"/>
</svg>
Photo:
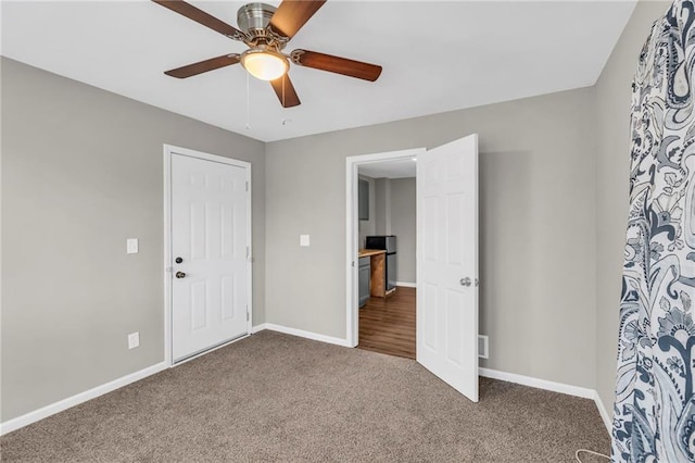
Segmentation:
<svg viewBox="0 0 695 463">
<path fill-rule="evenodd" d="M 359 309 L 357 348 L 415 359 L 415 288 L 399 286 L 388 298 Z"/>
</svg>

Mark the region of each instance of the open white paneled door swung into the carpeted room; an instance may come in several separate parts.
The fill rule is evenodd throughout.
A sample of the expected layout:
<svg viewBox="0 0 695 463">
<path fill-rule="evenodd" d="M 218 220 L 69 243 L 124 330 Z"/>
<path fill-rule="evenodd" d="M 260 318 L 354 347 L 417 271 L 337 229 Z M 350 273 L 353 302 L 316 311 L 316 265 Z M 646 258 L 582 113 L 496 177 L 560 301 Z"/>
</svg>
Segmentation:
<svg viewBox="0 0 695 463">
<path fill-rule="evenodd" d="M 478 136 L 417 158 L 417 361 L 478 401 Z"/>
</svg>

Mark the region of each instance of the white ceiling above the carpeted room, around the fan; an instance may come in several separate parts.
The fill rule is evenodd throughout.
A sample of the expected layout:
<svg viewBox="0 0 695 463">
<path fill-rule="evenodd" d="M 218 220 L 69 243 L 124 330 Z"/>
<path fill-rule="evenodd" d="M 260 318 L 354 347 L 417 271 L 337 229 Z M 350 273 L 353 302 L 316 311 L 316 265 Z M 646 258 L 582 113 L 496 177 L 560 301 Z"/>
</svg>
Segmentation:
<svg viewBox="0 0 695 463">
<path fill-rule="evenodd" d="M 191 3 L 236 26 L 244 2 Z M 371 62 L 383 73 L 368 83 L 292 66 L 302 101 L 292 109 L 240 65 L 165 76 L 245 46 L 144 0 L 2 1 L 2 54 L 273 141 L 593 85 L 634 3 L 329 0 L 286 51 Z"/>
</svg>

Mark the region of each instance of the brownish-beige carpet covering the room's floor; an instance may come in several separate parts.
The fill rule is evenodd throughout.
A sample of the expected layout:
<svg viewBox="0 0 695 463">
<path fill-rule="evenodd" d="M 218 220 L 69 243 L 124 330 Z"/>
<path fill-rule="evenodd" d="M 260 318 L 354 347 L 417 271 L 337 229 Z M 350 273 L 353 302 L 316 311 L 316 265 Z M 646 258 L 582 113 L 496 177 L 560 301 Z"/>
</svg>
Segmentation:
<svg viewBox="0 0 695 463">
<path fill-rule="evenodd" d="M 475 404 L 412 360 L 262 331 L 0 446 L 3 462 L 572 462 L 609 439 L 591 400 L 481 378 Z"/>
</svg>

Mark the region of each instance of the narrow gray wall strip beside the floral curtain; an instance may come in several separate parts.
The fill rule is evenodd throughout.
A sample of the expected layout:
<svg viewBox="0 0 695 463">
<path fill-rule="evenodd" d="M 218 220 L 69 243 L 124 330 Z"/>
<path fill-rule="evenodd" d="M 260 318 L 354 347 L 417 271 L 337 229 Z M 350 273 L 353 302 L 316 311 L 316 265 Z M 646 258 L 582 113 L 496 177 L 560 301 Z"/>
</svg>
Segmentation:
<svg viewBox="0 0 695 463">
<path fill-rule="evenodd" d="M 618 312 L 628 223 L 630 98 L 637 58 L 652 24 L 670 2 L 640 1 L 610 55 L 596 91 L 596 389 L 612 413 Z"/>
</svg>

